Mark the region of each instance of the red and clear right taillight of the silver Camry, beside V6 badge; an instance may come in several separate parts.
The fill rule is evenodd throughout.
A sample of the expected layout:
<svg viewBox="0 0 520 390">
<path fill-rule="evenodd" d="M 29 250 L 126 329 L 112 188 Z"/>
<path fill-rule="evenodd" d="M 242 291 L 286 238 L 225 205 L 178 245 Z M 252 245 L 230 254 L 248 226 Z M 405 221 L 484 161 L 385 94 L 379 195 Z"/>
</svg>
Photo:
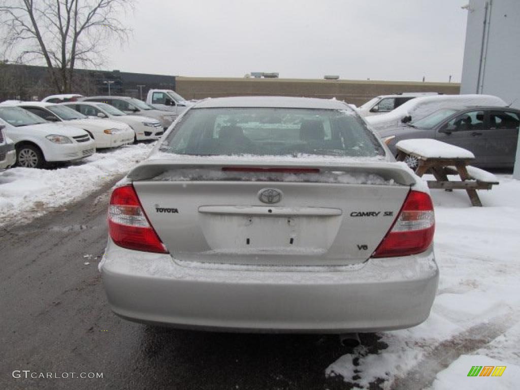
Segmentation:
<svg viewBox="0 0 520 390">
<path fill-rule="evenodd" d="M 392 228 L 372 257 L 407 256 L 424 252 L 432 243 L 435 217 L 427 193 L 410 191 Z"/>
</svg>

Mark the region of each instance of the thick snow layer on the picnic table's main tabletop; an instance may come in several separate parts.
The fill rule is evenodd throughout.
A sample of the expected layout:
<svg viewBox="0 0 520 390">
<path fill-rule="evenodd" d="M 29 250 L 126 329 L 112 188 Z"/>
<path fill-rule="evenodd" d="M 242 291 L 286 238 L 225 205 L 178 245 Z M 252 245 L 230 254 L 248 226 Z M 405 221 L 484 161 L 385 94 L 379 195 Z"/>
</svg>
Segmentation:
<svg viewBox="0 0 520 390">
<path fill-rule="evenodd" d="M 443 159 L 474 159 L 475 155 L 469 150 L 459 148 L 458 146 L 446 144 L 436 139 L 417 138 L 404 139 L 397 142 L 397 149 L 408 154 L 418 154 L 422 157 L 443 158 Z"/>
</svg>

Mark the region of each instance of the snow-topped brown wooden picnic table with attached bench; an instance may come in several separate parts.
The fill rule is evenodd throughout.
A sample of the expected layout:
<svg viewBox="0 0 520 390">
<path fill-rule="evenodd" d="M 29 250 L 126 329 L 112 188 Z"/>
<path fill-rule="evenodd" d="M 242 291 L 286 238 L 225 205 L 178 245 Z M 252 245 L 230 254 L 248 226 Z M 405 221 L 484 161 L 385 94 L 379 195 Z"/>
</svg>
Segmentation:
<svg viewBox="0 0 520 390">
<path fill-rule="evenodd" d="M 490 190 L 499 181 L 495 175 L 469 165 L 475 155 L 469 150 L 436 139 L 406 139 L 397 142 L 397 161 L 417 160 L 415 174 L 431 173 L 435 180 L 427 180 L 429 188 L 447 191 L 466 190 L 473 206 L 482 206 L 476 190 Z M 447 175 L 459 175 L 449 180 Z"/>
</svg>

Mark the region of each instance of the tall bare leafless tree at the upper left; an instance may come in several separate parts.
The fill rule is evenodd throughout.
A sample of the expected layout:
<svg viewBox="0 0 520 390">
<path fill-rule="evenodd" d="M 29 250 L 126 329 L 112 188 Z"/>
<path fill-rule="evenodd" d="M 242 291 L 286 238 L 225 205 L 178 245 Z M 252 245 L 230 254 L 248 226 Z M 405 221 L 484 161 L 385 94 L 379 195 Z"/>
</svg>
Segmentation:
<svg viewBox="0 0 520 390">
<path fill-rule="evenodd" d="M 77 64 L 97 68 L 109 44 L 125 42 L 122 17 L 134 0 L 1 0 L 4 48 L 18 63 L 44 61 L 60 93 L 71 92 Z"/>
</svg>

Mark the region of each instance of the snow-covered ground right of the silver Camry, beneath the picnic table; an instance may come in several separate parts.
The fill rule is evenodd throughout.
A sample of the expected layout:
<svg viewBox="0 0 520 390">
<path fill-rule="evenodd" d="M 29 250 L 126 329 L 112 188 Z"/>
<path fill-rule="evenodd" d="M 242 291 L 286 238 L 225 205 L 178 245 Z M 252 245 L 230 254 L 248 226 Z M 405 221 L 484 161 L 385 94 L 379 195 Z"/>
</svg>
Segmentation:
<svg viewBox="0 0 520 390">
<path fill-rule="evenodd" d="M 498 176 L 499 186 L 479 191 L 484 207 L 472 207 L 465 191 L 432 191 L 440 282 L 430 317 L 379 333 L 386 349 L 357 347 L 326 375 L 360 388 L 377 378 L 397 389 L 520 386 L 520 181 Z M 472 366 L 507 368 L 501 377 L 468 377 Z"/>
</svg>

